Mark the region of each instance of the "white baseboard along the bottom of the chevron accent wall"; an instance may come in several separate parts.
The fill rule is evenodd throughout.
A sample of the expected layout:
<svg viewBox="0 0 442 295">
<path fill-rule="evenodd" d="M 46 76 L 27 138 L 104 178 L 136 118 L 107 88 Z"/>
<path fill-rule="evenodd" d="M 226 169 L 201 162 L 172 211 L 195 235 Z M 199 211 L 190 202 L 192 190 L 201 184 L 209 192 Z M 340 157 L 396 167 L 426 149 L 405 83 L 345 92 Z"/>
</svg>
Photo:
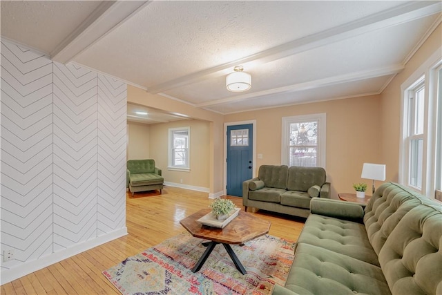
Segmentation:
<svg viewBox="0 0 442 295">
<path fill-rule="evenodd" d="M 49 265 L 52 265 L 54 263 L 58 263 L 61 260 L 75 256 L 88 249 L 92 249 L 93 247 L 102 245 L 105 242 L 110 242 L 111 240 L 115 240 L 116 238 L 121 238 L 122 236 L 126 236 L 127 234 L 127 227 L 123 227 L 122 229 L 117 229 L 116 231 L 113 231 L 111 233 L 94 238 L 93 240 L 87 240 L 86 242 L 81 242 L 77 245 L 74 245 L 73 247 L 49 254 L 48 256 L 41 257 L 37 260 L 25 262 L 17 267 L 12 267 L 11 269 L 3 269 L 0 275 L 0 285 L 9 283 L 12 280 L 16 280 L 17 278 L 21 278 L 22 276 L 30 274 L 31 272 L 36 272 L 39 269 L 48 267 Z"/>
</svg>

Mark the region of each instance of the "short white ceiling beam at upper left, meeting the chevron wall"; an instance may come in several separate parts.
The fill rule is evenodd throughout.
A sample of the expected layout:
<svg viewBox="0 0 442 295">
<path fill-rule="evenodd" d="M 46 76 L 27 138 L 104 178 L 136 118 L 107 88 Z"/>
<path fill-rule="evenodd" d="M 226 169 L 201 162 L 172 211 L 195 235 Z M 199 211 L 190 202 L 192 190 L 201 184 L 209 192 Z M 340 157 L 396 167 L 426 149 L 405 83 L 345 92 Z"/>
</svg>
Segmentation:
<svg viewBox="0 0 442 295">
<path fill-rule="evenodd" d="M 102 1 L 86 20 L 50 53 L 52 60 L 67 64 L 148 3 L 150 1 Z"/>
</svg>

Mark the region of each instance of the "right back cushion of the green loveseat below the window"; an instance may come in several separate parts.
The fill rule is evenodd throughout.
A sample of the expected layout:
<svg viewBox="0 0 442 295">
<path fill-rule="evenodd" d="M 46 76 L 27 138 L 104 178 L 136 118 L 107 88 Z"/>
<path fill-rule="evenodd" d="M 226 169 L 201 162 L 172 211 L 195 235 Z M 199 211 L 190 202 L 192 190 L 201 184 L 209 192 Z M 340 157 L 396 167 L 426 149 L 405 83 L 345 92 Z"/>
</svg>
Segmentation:
<svg viewBox="0 0 442 295">
<path fill-rule="evenodd" d="M 291 166 L 287 179 L 287 190 L 308 191 L 314 185 L 322 187 L 325 178 L 325 169 L 322 167 Z"/>
</svg>

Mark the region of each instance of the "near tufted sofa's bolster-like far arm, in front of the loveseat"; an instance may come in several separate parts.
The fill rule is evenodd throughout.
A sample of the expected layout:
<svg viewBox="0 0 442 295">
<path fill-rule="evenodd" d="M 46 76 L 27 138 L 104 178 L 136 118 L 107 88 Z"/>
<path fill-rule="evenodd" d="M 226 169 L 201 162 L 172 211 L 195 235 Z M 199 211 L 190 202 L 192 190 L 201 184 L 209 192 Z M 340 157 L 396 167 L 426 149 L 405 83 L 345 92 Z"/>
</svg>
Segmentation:
<svg viewBox="0 0 442 295">
<path fill-rule="evenodd" d="M 346 202 L 323 198 L 312 198 L 310 211 L 313 214 L 320 214 L 334 218 L 363 222 L 363 204 Z"/>
</svg>

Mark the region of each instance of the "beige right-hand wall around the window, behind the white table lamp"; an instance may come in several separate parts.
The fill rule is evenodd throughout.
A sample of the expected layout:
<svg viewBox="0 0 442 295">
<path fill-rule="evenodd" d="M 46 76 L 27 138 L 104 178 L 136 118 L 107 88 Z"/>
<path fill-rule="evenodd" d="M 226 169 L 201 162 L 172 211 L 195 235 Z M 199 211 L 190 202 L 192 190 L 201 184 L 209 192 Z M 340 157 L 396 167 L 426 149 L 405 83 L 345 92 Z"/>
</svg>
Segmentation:
<svg viewBox="0 0 442 295">
<path fill-rule="evenodd" d="M 385 88 L 381 95 L 379 113 L 382 122 L 382 161 L 387 164 L 387 180 L 398 181 L 399 144 L 401 143 L 401 84 L 405 82 L 434 52 L 442 46 L 441 25 L 432 32 L 423 46 L 407 62 L 405 69 Z M 423 73 L 422 73 L 423 74 Z"/>
</svg>

